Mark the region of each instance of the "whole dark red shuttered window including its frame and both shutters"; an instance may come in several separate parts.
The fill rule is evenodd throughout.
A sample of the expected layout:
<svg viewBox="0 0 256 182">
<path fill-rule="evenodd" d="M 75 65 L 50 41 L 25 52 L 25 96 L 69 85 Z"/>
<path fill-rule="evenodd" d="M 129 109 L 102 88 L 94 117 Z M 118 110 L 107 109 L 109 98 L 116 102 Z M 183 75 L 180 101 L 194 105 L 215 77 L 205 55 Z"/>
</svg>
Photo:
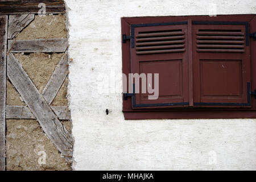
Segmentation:
<svg viewBox="0 0 256 182">
<path fill-rule="evenodd" d="M 125 119 L 256 117 L 255 15 L 121 20 L 123 73 L 159 73 L 156 100 L 123 82 Z"/>
</svg>

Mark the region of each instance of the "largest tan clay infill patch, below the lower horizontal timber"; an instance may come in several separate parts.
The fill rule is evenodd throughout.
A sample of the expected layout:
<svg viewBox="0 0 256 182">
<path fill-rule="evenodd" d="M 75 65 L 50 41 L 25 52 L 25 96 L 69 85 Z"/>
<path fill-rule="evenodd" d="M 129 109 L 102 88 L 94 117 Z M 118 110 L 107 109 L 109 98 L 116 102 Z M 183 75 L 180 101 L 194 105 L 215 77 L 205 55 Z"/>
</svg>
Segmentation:
<svg viewBox="0 0 256 182">
<path fill-rule="evenodd" d="M 44 134 L 35 119 L 7 119 L 7 170 L 70 170 L 70 164 Z M 46 152 L 46 164 L 39 164 L 40 151 Z"/>
</svg>

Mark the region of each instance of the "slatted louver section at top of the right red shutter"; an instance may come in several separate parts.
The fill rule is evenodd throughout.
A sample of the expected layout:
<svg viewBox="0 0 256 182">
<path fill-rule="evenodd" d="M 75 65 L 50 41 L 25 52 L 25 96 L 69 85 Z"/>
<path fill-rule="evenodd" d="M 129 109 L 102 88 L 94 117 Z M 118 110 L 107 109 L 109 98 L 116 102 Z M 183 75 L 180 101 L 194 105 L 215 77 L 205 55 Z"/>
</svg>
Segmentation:
<svg viewBox="0 0 256 182">
<path fill-rule="evenodd" d="M 245 52 L 245 34 L 241 30 L 199 30 L 197 52 Z"/>
</svg>

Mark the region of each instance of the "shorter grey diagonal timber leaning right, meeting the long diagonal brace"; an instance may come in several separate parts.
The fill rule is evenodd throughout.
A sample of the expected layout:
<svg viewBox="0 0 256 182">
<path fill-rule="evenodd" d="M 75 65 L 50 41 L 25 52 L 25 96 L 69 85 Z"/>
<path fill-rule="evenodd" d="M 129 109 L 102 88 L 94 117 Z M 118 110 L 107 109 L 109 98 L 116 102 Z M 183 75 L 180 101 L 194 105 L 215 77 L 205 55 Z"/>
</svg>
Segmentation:
<svg viewBox="0 0 256 182">
<path fill-rule="evenodd" d="M 61 59 L 51 78 L 49 79 L 46 87 L 44 88 L 42 94 L 47 104 L 50 105 L 55 98 L 56 94 L 59 92 L 61 85 L 63 84 L 65 78 L 68 75 L 68 55 L 65 53 Z"/>
</svg>

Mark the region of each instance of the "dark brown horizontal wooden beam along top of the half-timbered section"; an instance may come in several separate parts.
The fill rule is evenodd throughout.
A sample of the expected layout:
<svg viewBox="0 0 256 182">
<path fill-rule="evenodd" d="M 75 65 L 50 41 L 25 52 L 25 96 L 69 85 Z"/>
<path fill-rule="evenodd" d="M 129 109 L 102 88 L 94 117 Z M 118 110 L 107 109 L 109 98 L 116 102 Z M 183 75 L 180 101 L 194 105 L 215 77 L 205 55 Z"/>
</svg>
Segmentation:
<svg viewBox="0 0 256 182">
<path fill-rule="evenodd" d="M 46 4 L 46 14 L 64 14 L 63 0 L 7 0 L 0 2 L 0 15 L 38 13 L 39 3 Z"/>
</svg>

